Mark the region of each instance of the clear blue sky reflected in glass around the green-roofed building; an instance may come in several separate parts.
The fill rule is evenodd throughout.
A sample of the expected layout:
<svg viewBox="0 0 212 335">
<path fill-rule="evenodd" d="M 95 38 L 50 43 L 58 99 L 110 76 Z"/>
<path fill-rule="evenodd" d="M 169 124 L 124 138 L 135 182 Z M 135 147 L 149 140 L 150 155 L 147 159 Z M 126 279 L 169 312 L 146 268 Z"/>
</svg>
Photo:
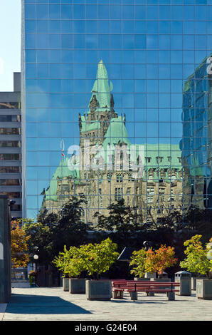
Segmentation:
<svg viewBox="0 0 212 335">
<path fill-rule="evenodd" d="M 206 140 L 207 129 L 198 133 L 203 120 L 195 117 L 196 128 L 186 130 L 182 108 L 188 107 L 188 77 L 211 53 L 211 16 L 210 0 L 25 1 L 29 215 L 41 206 L 40 194 L 60 163 L 61 140 L 65 153 L 79 143 L 78 113 L 88 113 L 101 60 L 132 143 L 181 143 L 181 150 L 191 150 L 183 135 Z M 195 87 L 206 65 L 203 71 Z M 208 90 L 207 78 L 200 90 Z M 196 99 L 196 88 L 189 94 Z M 207 98 L 196 110 L 208 108 Z M 196 144 L 194 150 L 203 149 Z"/>
</svg>

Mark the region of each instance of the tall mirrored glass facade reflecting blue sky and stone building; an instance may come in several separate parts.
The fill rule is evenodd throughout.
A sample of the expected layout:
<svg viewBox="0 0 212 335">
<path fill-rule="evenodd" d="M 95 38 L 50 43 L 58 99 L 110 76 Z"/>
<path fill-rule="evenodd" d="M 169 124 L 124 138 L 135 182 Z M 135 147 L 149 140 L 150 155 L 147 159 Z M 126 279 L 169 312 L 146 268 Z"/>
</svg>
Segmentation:
<svg viewBox="0 0 212 335">
<path fill-rule="evenodd" d="M 212 0 L 22 2 L 24 215 L 210 207 Z"/>
</svg>

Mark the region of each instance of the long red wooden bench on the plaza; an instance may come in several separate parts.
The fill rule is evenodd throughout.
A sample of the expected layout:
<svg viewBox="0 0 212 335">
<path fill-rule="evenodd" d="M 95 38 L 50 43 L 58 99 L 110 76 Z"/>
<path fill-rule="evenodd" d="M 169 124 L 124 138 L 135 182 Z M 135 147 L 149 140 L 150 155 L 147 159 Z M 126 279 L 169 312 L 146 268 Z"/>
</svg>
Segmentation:
<svg viewBox="0 0 212 335">
<path fill-rule="evenodd" d="M 124 292 L 128 292 L 132 300 L 137 300 L 137 292 L 146 292 L 148 295 L 166 293 L 169 300 L 174 300 L 175 292 L 179 292 L 179 289 L 175 289 L 175 287 L 179 286 L 180 283 L 176 282 L 113 281 L 112 297 L 114 299 L 122 299 Z"/>
</svg>

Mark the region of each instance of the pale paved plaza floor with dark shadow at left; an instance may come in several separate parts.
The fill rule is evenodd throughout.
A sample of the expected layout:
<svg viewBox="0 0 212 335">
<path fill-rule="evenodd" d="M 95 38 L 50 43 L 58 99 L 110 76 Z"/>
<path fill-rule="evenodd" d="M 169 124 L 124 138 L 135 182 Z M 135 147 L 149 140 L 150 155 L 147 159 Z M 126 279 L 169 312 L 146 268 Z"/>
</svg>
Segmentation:
<svg viewBox="0 0 212 335">
<path fill-rule="evenodd" d="M 193 291 L 194 292 L 194 291 Z M 63 292 L 62 287 L 12 289 L 9 304 L 0 304 L 1 321 L 211 321 L 212 300 L 176 295 L 167 301 L 166 294 L 137 301 L 129 295 L 111 301 L 88 301 L 85 294 Z"/>
</svg>

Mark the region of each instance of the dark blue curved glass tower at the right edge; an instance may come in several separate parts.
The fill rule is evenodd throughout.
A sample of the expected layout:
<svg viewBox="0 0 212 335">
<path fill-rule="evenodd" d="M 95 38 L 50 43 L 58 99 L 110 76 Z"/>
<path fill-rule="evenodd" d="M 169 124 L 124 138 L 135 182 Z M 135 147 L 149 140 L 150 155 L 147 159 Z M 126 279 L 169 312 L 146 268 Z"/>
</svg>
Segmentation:
<svg viewBox="0 0 212 335">
<path fill-rule="evenodd" d="M 211 75 L 206 58 L 189 76 L 183 94 L 184 208 L 212 207 Z"/>
</svg>

